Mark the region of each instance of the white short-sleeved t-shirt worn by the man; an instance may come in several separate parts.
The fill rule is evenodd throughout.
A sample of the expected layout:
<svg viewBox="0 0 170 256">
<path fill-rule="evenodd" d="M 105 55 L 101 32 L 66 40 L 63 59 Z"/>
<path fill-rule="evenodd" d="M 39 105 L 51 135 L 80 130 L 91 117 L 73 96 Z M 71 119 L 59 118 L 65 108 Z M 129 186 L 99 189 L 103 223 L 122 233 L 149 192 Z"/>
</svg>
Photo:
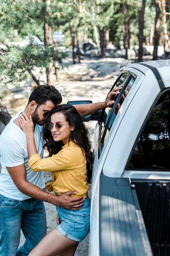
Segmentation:
<svg viewBox="0 0 170 256">
<path fill-rule="evenodd" d="M 25 163 L 26 166 L 26 179 L 40 187 L 45 188 L 45 182 L 43 177 L 43 172 L 32 172 L 28 166 L 28 152 L 26 144 L 26 134 L 14 124 L 14 119 L 16 119 L 24 109 L 18 112 L 6 125 L 0 135 L 0 163 L 2 170 L 0 173 L 0 194 L 8 198 L 13 198 L 17 200 L 26 200 L 30 198 L 28 195 L 20 192 L 15 186 L 11 176 L 9 175 L 7 167 L 20 166 Z M 42 126 L 36 125 L 34 131 L 34 138 L 37 147 L 38 154 L 43 158 L 43 140 L 40 137 L 42 131 Z"/>
</svg>

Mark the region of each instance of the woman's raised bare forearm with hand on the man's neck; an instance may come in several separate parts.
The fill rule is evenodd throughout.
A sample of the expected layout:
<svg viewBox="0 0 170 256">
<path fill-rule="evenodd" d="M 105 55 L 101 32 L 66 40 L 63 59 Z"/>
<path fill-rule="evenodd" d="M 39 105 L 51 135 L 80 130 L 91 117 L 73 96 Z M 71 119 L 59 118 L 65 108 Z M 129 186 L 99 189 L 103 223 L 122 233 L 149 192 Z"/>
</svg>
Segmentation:
<svg viewBox="0 0 170 256">
<path fill-rule="evenodd" d="M 21 129 L 26 134 L 26 140 L 27 140 L 27 151 L 28 151 L 28 157 L 30 158 L 34 154 L 38 154 L 37 148 L 35 145 L 34 140 L 34 123 L 32 121 L 32 118 L 28 118 L 28 116 L 23 112 L 18 117 L 18 122 L 20 124 Z"/>
</svg>

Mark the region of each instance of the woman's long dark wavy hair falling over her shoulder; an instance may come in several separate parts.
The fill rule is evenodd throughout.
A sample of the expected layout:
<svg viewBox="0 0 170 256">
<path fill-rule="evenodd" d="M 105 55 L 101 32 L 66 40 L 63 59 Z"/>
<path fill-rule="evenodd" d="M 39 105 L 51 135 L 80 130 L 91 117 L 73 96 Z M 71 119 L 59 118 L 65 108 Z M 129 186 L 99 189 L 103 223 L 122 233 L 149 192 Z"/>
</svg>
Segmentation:
<svg viewBox="0 0 170 256">
<path fill-rule="evenodd" d="M 89 132 L 85 127 L 85 124 L 82 122 L 81 116 L 77 112 L 76 108 L 72 105 L 62 104 L 55 108 L 53 108 L 46 120 L 43 128 L 43 137 L 45 140 L 44 148 L 46 148 L 49 152 L 49 156 L 51 157 L 53 154 L 57 154 L 62 148 L 62 141 L 54 141 L 51 131 L 48 130 L 46 124 L 51 122 L 51 115 L 54 113 L 62 113 L 65 116 L 65 120 L 69 123 L 71 127 L 74 126 L 74 131 L 71 131 L 71 136 L 69 141 L 73 140 L 81 149 L 83 154 L 85 155 L 85 159 L 87 161 L 87 181 L 91 182 L 92 175 L 92 166 L 93 166 L 93 154 L 91 152 L 91 141 L 89 140 Z"/>
</svg>

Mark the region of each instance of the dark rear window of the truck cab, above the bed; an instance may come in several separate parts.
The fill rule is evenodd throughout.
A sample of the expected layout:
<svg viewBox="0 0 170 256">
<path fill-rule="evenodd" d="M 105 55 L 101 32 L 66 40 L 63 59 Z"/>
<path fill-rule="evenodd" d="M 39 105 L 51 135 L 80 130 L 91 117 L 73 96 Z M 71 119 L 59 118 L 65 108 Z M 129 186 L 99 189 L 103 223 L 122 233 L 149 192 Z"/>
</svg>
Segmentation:
<svg viewBox="0 0 170 256">
<path fill-rule="evenodd" d="M 170 90 L 157 101 L 133 149 L 128 169 L 170 169 Z"/>
</svg>

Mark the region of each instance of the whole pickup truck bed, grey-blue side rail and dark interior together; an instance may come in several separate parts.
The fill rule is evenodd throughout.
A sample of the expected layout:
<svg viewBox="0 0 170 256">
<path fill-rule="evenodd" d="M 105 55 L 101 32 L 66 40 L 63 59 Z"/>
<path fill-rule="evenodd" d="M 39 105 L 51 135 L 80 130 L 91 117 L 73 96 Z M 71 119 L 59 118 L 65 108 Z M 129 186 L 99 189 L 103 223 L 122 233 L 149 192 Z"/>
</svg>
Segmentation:
<svg viewBox="0 0 170 256">
<path fill-rule="evenodd" d="M 104 256 L 170 255 L 170 180 L 100 177 Z"/>
</svg>

